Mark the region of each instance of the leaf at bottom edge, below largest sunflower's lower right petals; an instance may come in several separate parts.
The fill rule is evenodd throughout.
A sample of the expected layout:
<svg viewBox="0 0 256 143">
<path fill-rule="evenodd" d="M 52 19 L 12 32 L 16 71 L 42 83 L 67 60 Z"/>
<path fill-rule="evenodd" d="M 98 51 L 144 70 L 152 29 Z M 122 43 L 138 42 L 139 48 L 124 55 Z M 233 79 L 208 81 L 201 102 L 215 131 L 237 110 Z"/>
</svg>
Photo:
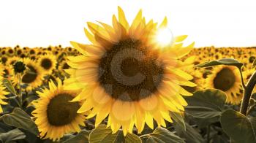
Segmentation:
<svg viewBox="0 0 256 143">
<path fill-rule="evenodd" d="M 141 137 L 146 143 L 156 143 L 156 142 L 168 142 L 168 143 L 185 143 L 183 139 L 168 131 L 166 128 L 156 128 L 153 133 L 146 134 Z"/>
</svg>

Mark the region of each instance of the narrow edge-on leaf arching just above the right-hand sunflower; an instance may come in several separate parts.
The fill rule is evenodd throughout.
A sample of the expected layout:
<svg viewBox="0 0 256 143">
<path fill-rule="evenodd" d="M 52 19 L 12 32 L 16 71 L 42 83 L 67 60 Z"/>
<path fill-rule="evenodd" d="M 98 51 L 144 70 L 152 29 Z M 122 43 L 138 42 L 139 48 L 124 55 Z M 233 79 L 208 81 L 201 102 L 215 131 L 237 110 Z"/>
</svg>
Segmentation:
<svg viewBox="0 0 256 143">
<path fill-rule="evenodd" d="M 197 64 L 196 67 L 203 68 L 203 67 L 218 66 L 218 65 L 236 66 L 239 69 L 241 69 L 241 67 L 244 64 L 240 63 L 239 61 L 237 61 L 233 58 L 222 58 L 220 60 L 207 61 L 206 63 Z"/>
</svg>

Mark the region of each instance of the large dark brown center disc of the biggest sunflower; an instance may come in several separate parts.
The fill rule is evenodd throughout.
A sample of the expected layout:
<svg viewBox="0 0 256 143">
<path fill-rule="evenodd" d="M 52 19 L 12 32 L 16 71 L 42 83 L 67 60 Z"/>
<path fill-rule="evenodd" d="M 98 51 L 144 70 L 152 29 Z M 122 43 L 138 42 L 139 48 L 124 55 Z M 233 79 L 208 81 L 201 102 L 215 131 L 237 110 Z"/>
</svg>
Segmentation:
<svg viewBox="0 0 256 143">
<path fill-rule="evenodd" d="M 99 85 L 121 101 L 147 98 L 157 92 L 162 82 L 164 64 L 158 59 L 157 51 L 139 40 L 120 41 L 99 60 Z"/>
</svg>

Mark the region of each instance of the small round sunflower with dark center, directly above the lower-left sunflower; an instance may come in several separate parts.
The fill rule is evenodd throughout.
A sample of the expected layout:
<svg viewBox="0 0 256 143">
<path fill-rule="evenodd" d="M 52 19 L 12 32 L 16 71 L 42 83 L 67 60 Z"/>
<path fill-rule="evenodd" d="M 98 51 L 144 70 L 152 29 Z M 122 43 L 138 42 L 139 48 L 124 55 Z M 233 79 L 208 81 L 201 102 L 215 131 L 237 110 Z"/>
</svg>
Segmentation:
<svg viewBox="0 0 256 143">
<path fill-rule="evenodd" d="M 45 74 L 51 74 L 53 69 L 56 68 L 57 61 L 54 55 L 48 54 L 40 56 L 37 63 L 39 63 L 39 66 L 45 71 Z"/>
</svg>

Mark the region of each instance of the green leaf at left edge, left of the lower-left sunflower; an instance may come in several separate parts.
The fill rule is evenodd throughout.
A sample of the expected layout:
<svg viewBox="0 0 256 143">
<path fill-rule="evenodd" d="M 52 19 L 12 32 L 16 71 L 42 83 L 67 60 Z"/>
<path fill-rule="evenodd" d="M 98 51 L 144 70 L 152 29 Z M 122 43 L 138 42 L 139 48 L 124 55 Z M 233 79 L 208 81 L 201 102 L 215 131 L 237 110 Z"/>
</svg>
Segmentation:
<svg viewBox="0 0 256 143">
<path fill-rule="evenodd" d="M 32 134 L 38 135 L 37 125 L 31 117 L 20 108 L 15 108 L 12 113 L 1 116 L 1 120 L 7 125 L 23 128 Z"/>
</svg>

